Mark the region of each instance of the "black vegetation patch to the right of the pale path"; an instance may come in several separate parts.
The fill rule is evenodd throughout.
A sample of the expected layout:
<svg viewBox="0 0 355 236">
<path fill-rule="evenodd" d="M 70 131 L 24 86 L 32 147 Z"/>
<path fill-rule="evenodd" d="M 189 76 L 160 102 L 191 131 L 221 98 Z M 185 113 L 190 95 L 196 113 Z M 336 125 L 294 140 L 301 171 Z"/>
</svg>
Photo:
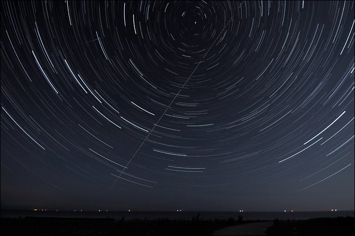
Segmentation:
<svg viewBox="0 0 355 236">
<path fill-rule="evenodd" d="M 309 220 L 274 220 L 267 235 L 354 235 L 355 218 L 316 218 Z"/>
</svg>

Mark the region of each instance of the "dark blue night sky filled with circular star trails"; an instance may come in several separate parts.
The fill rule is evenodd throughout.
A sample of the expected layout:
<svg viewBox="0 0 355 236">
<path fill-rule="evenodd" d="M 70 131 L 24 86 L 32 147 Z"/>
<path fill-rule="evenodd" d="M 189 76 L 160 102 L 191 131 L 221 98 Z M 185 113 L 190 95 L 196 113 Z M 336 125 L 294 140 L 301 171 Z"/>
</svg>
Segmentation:
<svg viewBox="0 0 355 236">
<path fill-rule="evenodd" d="M 1 5 L 2 208 L 354 209 L 353 1 Z"/>
</svg>

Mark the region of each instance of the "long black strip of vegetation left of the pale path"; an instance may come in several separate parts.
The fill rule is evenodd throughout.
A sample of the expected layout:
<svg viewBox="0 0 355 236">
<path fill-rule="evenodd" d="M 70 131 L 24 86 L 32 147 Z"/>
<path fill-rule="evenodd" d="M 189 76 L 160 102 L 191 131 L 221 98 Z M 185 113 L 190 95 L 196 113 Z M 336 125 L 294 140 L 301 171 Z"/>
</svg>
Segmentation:
<svg viewBox="0 0 355 236">
<path fill-rule="evenodd" d="M 120 220 L 90 218 L 1 219 L 1 235 L 208 235 L 217 229 L 256 221 L 201 220 Z"/>
</svg>

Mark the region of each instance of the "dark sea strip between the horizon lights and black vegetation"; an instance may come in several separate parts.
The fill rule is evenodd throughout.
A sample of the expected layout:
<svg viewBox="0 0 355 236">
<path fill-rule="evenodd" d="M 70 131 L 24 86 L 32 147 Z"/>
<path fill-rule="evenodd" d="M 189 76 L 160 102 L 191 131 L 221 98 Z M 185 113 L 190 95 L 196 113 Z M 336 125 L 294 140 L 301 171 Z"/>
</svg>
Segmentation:
<svg viewBox="0 0 355 236">
<path fill-rule="evenodd" d="M 170 220 L 191 220 L 199 214 L 199 219 L 214 220 L 228 219 L 232 217 L 238 219 L 239 215 L 243 216 L 243 220 L 273 220 L 278 218 L 284 219 L 309 219 L 321 217 L 338 217 L 351 216 L 354 217 L 354 211 L 327 211 L 327 212 L 142 212 L 142 211 L 28 211 L 28 210 L 1 210 L 2 218 L 18 218 L 18 217 L 65 217 L 65 218 L 114 218 L 120 220 L 124 217 L 125 220 L 132 219 L 159 219 L 168 218 Z"/>
</svg>

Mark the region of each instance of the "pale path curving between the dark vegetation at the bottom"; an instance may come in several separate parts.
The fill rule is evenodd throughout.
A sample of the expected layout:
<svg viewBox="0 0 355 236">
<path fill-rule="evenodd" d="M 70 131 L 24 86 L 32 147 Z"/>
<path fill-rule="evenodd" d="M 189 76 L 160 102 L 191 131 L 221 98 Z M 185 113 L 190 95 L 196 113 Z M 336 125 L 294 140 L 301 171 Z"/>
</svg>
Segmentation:
<svg viewBox="0 0 355 236">
<path fill-rule="evenodd" d="M 219 229 L 212 235 L 266 235 L 265 231 L 271 225 L 272 221 L 235 225 Z"/>
</svg>

